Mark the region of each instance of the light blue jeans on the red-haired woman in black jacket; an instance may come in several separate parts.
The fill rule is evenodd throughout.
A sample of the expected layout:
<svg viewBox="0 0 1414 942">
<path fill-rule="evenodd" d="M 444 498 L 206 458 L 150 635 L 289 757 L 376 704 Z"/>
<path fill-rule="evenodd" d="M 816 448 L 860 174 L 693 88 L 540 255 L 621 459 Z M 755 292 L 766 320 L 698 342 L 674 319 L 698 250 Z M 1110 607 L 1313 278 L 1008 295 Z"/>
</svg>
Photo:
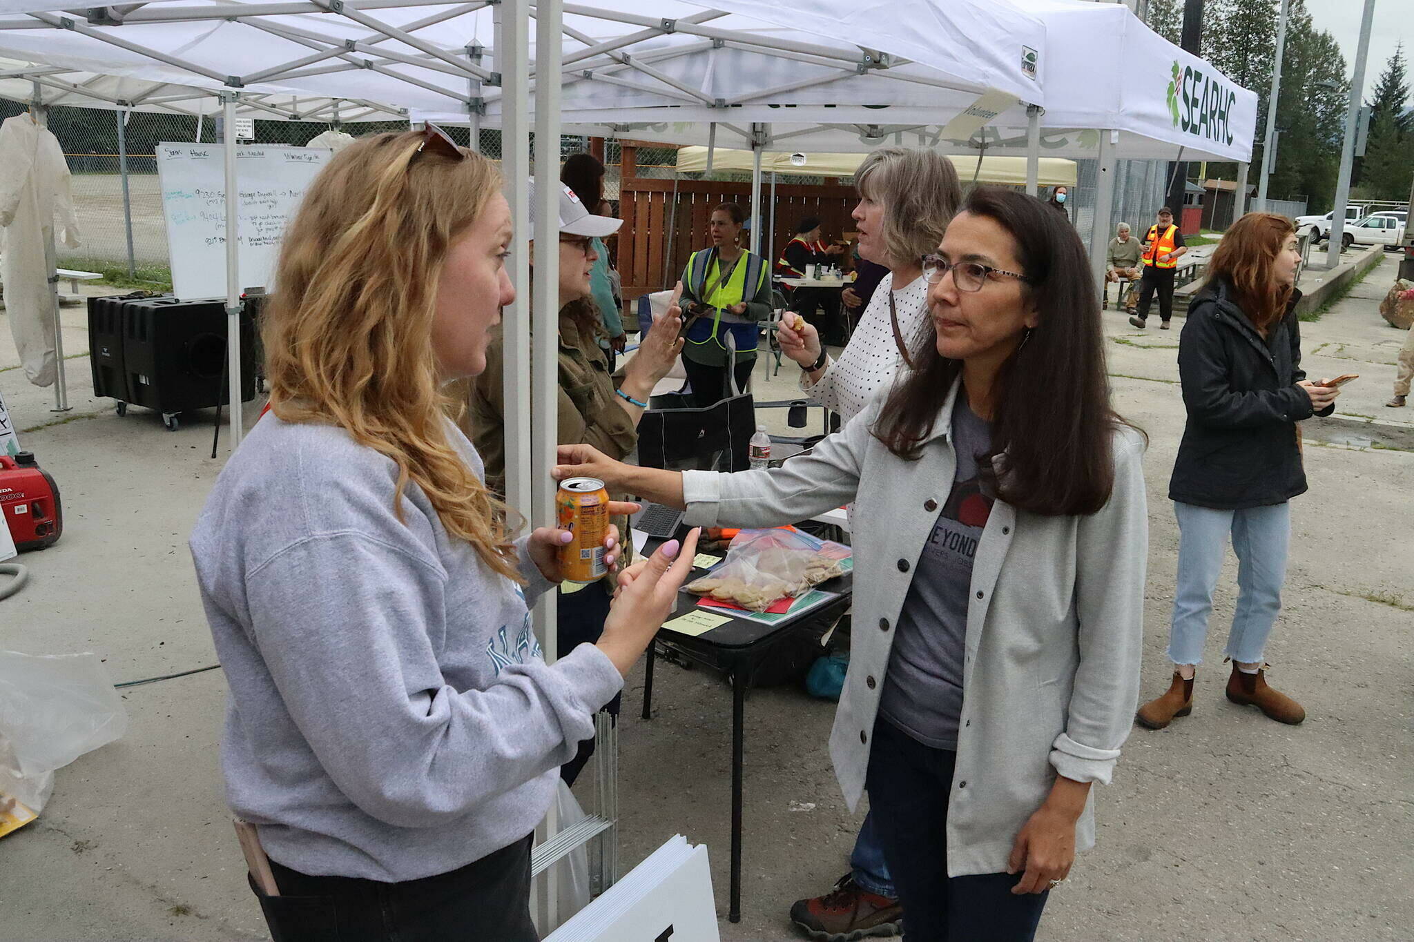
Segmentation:
<svg viewBox="0 0 1414 942">
<path fill-rule="evenodd" d="M 1267 636 L 1281 612 L 1291 506 L 1213 510 L 1175 501 L 1174 514 L 1181 537 L 1168 657 L 1174 664 L 1202 662 L 1213 586 L 1222 573 L 1230 534 L 1237 554 L 1237 607 L 1226 654 L 1243 664 L 1261 664 Z"/>
</svg>

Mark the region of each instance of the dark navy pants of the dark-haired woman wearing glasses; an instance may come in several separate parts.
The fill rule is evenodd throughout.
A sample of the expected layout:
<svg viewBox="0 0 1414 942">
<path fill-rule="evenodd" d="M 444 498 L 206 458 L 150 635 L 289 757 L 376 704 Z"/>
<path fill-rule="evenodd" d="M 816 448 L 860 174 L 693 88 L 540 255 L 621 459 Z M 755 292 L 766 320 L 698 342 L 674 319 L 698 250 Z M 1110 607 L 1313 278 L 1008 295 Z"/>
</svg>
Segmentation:
<svg viewBox="0 0 1414 942">
<path fill-rule="evenodd" d="M 947 799 L 957 753 L 929 749 L 884 719 L 870 751 L 870 813 L 908 942 L 1031 942 L 1048 893 L 1012 895 L 1022 874 L 947 876 Z"/>
</svg>

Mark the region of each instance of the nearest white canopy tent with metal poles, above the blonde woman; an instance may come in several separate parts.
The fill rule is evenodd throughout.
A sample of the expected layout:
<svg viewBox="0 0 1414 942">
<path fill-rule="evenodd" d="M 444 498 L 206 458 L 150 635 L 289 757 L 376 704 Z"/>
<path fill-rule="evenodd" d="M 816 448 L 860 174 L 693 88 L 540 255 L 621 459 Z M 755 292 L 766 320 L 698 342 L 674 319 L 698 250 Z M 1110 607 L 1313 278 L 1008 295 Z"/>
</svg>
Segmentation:
<svg viewBox="0 0 1414 942">
<path fill-rule="evenodd" d="M 1018 13 L 1004 0 L 950 0 L 929 4 L 908 0 L 902 7 L 928 11 L 929 35 L 919 41 L 918 23 L 905 17 L 880 18 L 841 41 L 822 41 L 789 25 L 762 27 L 759 18 L 723 11 L 679 0 L 598 0 L 595 6 L 563 4 L 560 0 L 287 0 L 283 3 L 242 3 L 209 0 L 170 0 L 132 7 L 95 7 L 83 14 L 65 13 L 55 0 L 0 0 L 0 55 L 10 55 L 45 66 L 89 71 L 150 82 L 170 82 L 205 88 L 222 95 L 222 113 L 233 123 L 239 102 L 246 96 L 273 93 L 359 97 L 396 105 L 423 113 L 451 112 L 464 116 L 474 127 L 486 110 L 488 88 L 499 82 L 499 124 L 503 136 L 503 172 L 519 239 L 529 232 L 529 138 L 532 73 L 554 76 L 534 83 L 533 130 L 536 140 L 554 141 L 561 133 L 561 105 L 566 86 L 584 78 L 584 72 L 604 66 L 626 66 L 635 78 L 646 76 L 667 97 L 686 93 L 694 103 L 713 109 L 718 120 L 728 109 L 717 96 L 708 102 L 682 88 L 684 82 L 658 68 L 655 61 L 641 62 L 641 42 L 676 37 L 667 45 L 707 42 L 721 52 L 747 51 L 789 59 L 800 66 L 833 69 L 836 78 L 875 78 L 889 72 L 888 82 L 909 82 L 929 89 L 936 100 L 945 90 L 957 92 L 957 100 L 977 102 L 988 89 L 1028 102 L 1044 103 L 1045 30 L 1041 23 Z M 533 23 L 532 23 L 533 10 Z M 766 11 L 762 0 L 751 11 Z M 844 0 L 820 0 L 810 16 L 841 18 L 850 13 Z M 877 44 L 863 47 L 860 42 Z M 488 48 L 489 47 L 489 48 Z M 929 55 L 921 65 L 881 48 L 919 49 Z M 533 49 L 533 55 L 532 55 Z M 725 58 L 725 56 L 721 56 Z M 534 66 L 532 68 L 532 59 Z M 898 72 L 895 72 L 898 69 Z M 566 73 L 570 75 L 566 75 Z M 574 73 L 580 73 L 575 78 Z M 901 75 L 902 78 L 894 78 Z M 614 85 L 615 75 L 605 76 Z M 820 75 L 792 78 L 761 85 L 769 95 L 756 103 L 789 102 L 792 92 L 823 86 Z M 749 88 L 742 88 L 748 97 Z M 836 90 L 834 102 L 855 100 Z M 926 102 L 922 103 L 926 106 Z M 865 109 L 847 121 L 868 121 Z M 959 107 L 959 112 L 966 107 Z M 933 112 L 936 114 L 936 110 Z M 659 120 L 653 117 L 652 120 Z M 759 137 L 761 130 L 752 129 Z M 756 144 L 759 148 L 759 143 Z M 238 191 L 235 148 L 225 148 L 228 208 Z M 758 174 L 759 186 L 759 174 Z M 542 186 L 534 236 L 542 242 L 556 239 L 556 189 Z M 239 239 L 238 216 L 226 213 L 226 288 L 230 325 L 228 354 L 232 360 L 232 441 L 239 442 L 239 336 L 236 318 L 242 288 L 235 246 Z M 513 254 L 512 274 L 519 295 L 529 297 L 527 253 Z M 551 253 L 534 271 L 534 321 L 556 322 L 557 260 Z M 549 470 L 554 463 L 556 441 L 556 371 L 530 370 L 530 362 L 553 363 L 557 356 L 556 332 L 534 332 L 532 346 L 529 305 L 506 312 L 506 441 L 508 499 L 534 523 L 553 520 L 554 482 Z M 532 383 L 522 377 L 532 376 Z M 534 623 L 547 660 L 556 655 L 554 599 L 536 607 Z M 598 826 L 590 822 L 587 826 Z M 554 815 L 549 829 L 556 829 Z M 561 842 L 563 843 L 563 842 Z M 734 880 L 730 917 L 740 918 L 740 847 L 734 842 Z M 539 870 L 537 863 L 536 869 Z M 554 888 L 546 894 L 546 908 L 553 918 Z M 542 924 L 544 928 L 544 924 Z"/>
</svg>

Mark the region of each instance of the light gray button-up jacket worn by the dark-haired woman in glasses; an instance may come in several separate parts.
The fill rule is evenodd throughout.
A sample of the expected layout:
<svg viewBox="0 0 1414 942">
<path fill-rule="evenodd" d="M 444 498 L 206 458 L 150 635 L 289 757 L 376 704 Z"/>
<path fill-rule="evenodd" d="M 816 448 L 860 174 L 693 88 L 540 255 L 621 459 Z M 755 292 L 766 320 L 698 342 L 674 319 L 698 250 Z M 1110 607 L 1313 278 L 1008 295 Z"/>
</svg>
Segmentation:
<svg viewBox="0 0 1414 942">
<path fill-rule="evenodd" d="M 912 569 L 947 500 L 954 384 L 916 462 L 871 428 L 881 391 L 810 455 L 769 472 L 686 472 L 691 524 L 772 527 L 854 501 L 854 633 L 830 757 L 850 808 Z M 1042 517 L 997 501 L 973 568 L 947 873 L 1001 873 L 1059 773 L 1109 784 L 1138 703 L 1148 517 L 1143 439 L 1114 434 L 1114 491 L 1096 514 Z M 1093 801 L 1076 849 L 1094 845 Z"/>
</svg>

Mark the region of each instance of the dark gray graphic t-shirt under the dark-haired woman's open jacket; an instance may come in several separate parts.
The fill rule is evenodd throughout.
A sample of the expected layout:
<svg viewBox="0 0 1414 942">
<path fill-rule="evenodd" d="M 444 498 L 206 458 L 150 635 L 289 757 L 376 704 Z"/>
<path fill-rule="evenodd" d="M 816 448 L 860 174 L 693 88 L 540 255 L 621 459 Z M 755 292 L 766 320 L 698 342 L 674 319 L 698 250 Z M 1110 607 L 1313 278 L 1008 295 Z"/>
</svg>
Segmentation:
<svg viewBox="0 0 1414 942">
<path fill-rule="evenodd" d="M 991 424 L 962 394 L 953 407 L 953 490 L 913 569 L 880 699 L 888 722 L 925 746 L 949 750 L 957 749 L 963 709 L 973 558 L 995 500 L 977 473 L 977 456 L 991 451 Z"/>
</svg>

